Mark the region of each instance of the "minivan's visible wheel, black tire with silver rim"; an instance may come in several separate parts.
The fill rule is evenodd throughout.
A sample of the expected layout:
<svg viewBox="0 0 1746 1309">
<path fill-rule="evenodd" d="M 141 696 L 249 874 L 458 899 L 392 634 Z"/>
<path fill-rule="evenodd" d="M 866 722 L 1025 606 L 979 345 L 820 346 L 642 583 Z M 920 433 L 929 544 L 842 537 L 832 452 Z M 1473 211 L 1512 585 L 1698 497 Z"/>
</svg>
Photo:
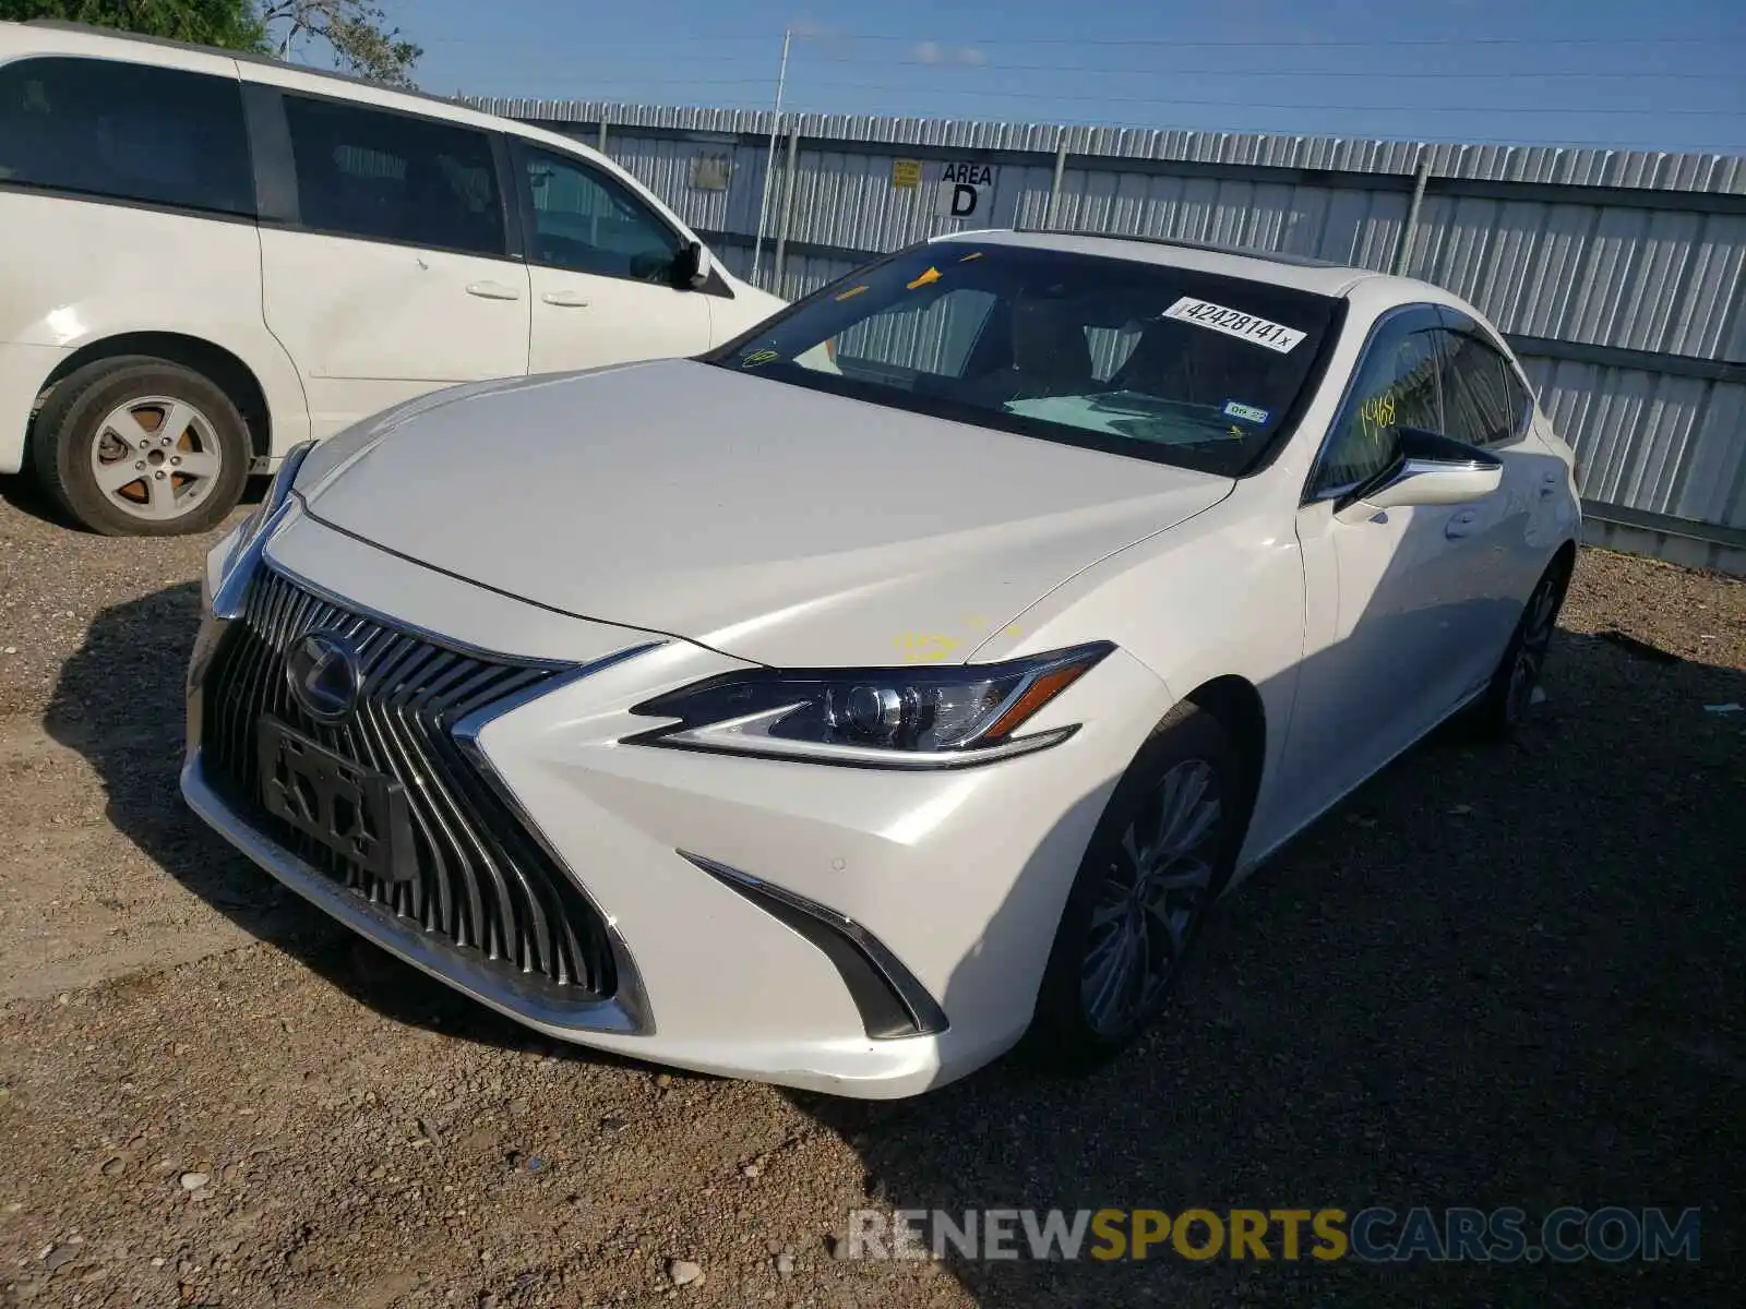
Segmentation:
<svg viewBox="0 0 1746 1309">
<path fill-rule="evenodd" d="M 44 489 L 84 527 L 182 536 L 236 508 L 251 450 L 236 403 L 208 377 L 129 354 L 87 363 L 54 387 L 31 454 Z M 115 480 L 129 471 L 138 476 Z"/>
</svg>

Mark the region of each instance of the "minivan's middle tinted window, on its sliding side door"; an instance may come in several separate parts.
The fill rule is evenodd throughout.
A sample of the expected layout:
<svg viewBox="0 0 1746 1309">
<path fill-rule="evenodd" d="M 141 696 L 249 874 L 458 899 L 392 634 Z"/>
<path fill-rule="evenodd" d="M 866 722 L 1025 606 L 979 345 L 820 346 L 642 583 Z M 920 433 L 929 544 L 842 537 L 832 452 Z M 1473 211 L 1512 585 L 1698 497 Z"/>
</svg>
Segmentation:
<svg viewBox="0 0 1746 1309">
<path fill-rule="evenodd" d="M 285 96 L 302 227 L 503 255 L 491 138 L 410 113 Z"/>
</svg>

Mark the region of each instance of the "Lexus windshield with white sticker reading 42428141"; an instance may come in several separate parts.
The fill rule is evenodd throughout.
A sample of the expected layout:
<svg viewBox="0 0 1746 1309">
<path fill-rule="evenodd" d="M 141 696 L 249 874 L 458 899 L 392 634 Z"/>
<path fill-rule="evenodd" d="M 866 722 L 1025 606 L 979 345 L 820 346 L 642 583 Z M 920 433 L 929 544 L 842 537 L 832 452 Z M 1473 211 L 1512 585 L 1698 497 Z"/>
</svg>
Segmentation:
<svg viewBox="0 0 1746 1309">
<path fill-rule="evenodd" d="M 1236 475 L 1287 422 L 1337 304 L 1140 260 L 943 241 L 861 269 L 705 360 Z"/>
</svg>

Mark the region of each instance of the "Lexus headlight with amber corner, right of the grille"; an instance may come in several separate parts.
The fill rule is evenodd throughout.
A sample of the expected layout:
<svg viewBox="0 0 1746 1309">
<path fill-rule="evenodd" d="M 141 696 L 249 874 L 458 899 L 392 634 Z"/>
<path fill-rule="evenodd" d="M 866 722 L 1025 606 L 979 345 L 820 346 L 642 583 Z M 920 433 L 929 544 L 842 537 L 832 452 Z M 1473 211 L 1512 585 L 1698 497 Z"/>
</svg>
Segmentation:
<svg viewBox="0 0 1746 1309">
<path fill-rule="evenodd" d="M 677 721 L 629 740 L 875 768 L 962 768 L 1067 740 L 1076 726 L 1014 733 L 1110 649 L 1096 642 L 953 668 L 735 672 L 636 705 L 632 714 Z"/>
</svg>

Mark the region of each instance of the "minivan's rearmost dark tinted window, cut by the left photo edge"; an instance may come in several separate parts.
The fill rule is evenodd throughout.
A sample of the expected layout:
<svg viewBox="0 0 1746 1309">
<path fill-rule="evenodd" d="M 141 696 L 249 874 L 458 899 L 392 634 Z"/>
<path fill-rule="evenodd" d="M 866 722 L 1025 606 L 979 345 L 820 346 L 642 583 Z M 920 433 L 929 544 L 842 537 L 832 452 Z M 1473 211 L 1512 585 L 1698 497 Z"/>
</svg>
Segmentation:
<svg viewBox="0 0 1746 1309">
<path fill-rule="evenodd" d="M 0 183 L 253 216 L 243 89 L 115 59 L 0 65 Z"/>
</svg>

